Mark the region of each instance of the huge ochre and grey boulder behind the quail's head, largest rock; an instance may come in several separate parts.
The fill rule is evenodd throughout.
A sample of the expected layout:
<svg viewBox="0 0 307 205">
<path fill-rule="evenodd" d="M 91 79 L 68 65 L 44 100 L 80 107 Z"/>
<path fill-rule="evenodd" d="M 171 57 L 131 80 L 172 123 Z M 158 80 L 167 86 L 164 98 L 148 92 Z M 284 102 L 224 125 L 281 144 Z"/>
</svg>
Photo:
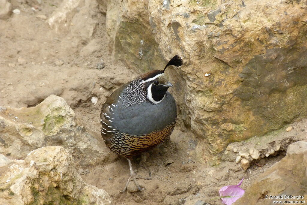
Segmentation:
<svg viewBox="0 0 307 205">
<path fill-rule="evenodd" d="M 130 68 L 183 57 L 166 73 L 198 160 L 216 164 L 229 143 L 307 116 L 305 1 L 98 2 L 109 47 Z"/>
</svg>

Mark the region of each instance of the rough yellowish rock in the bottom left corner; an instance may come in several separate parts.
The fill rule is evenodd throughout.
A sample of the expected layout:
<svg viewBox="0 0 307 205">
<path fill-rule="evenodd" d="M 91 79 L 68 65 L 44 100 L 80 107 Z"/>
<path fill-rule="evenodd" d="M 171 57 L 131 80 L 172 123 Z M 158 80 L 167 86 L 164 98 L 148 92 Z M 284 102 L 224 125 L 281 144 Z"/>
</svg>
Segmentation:
<svg viewBox="0 0 307 205">
<path fill-rule="evenodd" d="M 8 160 L 8 159 L 7 159 Z M 60 146 L 30 152 L 0 176 L 2 204 L 111 204 L 106 191 L 84 183 L 72 155 Z"/>
</svg>

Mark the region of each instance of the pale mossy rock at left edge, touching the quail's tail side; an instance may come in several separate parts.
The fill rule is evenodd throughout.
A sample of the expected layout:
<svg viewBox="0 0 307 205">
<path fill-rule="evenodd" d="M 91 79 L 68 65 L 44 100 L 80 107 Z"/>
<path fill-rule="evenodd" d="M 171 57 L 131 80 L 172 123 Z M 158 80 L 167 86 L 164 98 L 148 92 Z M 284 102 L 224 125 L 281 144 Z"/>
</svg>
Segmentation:
<svg viewBox="0 0 307 205">
<path fill-rule="evenodd" d="M 81 166 L 115 156 L 76 120 L 61 97 L 50 95 L 31 108 L 0 107 L 0 154 L 24 158 L 34 149 L 52 145 L 67 149 Z"/>
</svg>

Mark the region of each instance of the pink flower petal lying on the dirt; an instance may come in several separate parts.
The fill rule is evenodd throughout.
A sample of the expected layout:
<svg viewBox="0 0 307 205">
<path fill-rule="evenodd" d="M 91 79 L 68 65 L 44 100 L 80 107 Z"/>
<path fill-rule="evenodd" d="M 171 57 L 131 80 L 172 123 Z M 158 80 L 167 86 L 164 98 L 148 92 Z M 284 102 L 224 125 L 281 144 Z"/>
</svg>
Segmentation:
<svg viewBox="0 0 307 205">
<path fill-rule="evenodd" d="M 237 199 L 243 196 L 245 191 L 239 187 L 242 184 L 243 179 L 241 179 L 241 181 L 237 185 L 230 185 L 220 188 L 219 193 L 222 199 L 222 203 L 231 205 Z"/>
</svg>

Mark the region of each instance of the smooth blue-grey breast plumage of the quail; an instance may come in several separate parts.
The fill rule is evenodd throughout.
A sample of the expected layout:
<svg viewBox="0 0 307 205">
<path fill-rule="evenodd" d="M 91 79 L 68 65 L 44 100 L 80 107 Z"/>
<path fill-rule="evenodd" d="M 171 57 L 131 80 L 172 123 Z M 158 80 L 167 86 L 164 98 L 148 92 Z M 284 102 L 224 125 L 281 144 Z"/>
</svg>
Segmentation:
<svg viewBox="0 0 307 205">
<path fill-rule="evenodd" d="M 152 104 L 149 101 L 144 101 L 141 104 L 135 104 L 125 108 L 122 98 L 119 98 L 115 107 L 105 105 L 107 115 L 111 113 L 109 124 L 116 127 L 122 133 L 130 135 L 145 135 L 155 130 L 163 129 L 171 124 L 177 117 L 176 102 L 173 96 L 165 93 L 165 98 L 159 104 Z M 114 113 L 114 114 L 112 114 Z M 108 115 L 109 116 L 109 115 Z M 109 118 L 106 117 L 106 120 Z"/>
</svg>

